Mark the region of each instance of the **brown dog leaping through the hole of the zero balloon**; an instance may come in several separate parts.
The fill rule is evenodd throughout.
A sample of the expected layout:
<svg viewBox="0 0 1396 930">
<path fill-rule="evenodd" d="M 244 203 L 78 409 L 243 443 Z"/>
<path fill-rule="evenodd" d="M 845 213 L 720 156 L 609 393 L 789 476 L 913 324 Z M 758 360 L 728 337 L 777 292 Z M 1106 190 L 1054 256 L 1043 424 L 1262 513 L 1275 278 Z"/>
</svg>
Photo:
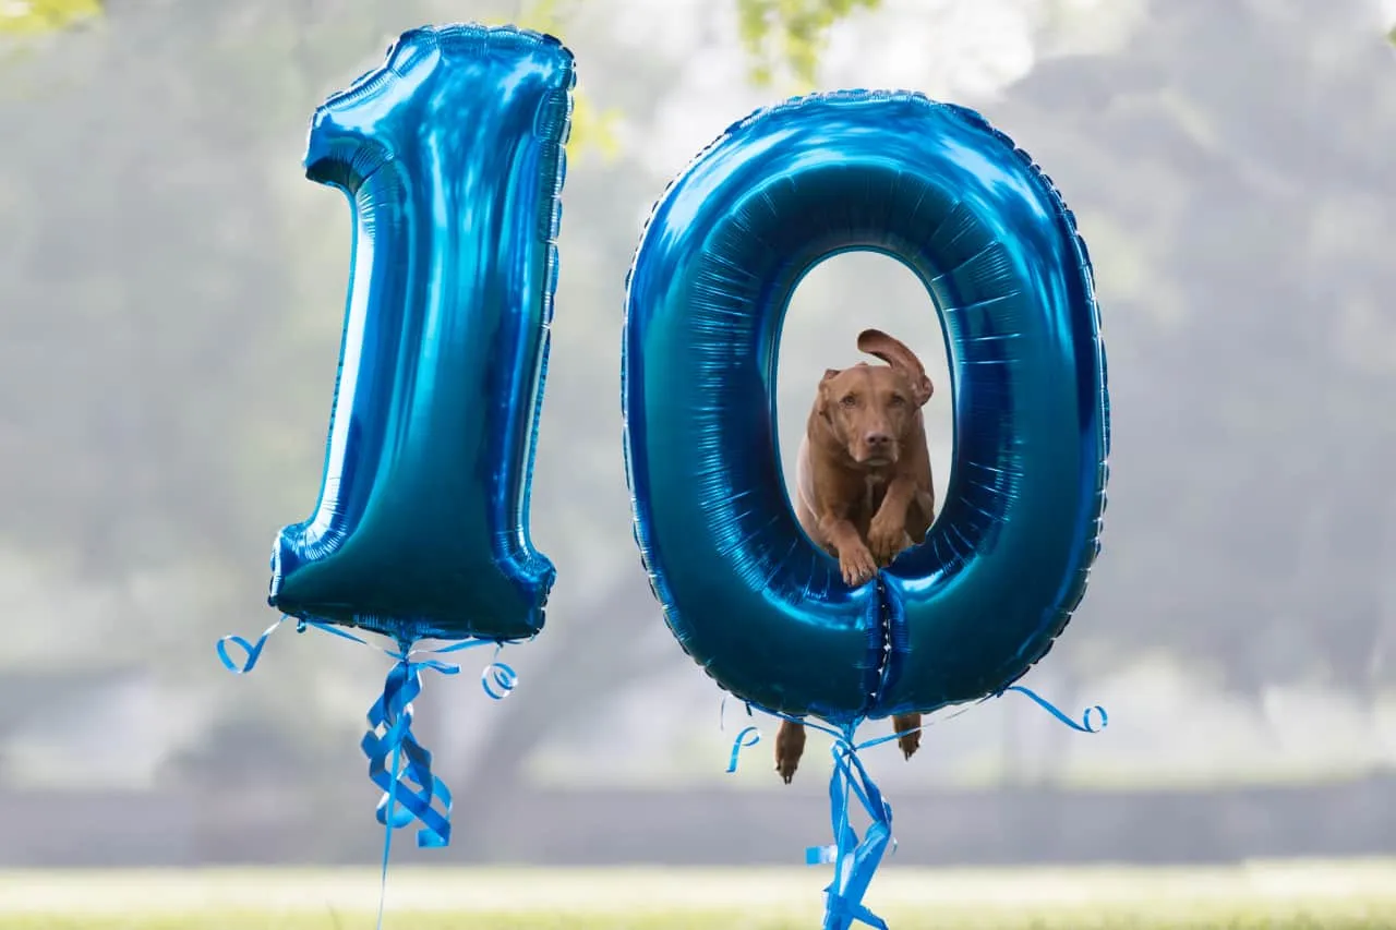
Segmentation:
<svg viewBox="0 0 1396 930">
<path fill-rule="evenodd" d="M 913 545 L 935 519 L 931 454 L 921 408 L 931 380 L 910 349 L 879 330 L 859 334 L 860 362 L 829 369 L 805 423 L 796 468 L 796 517 L 815 545 L 839 560 L 843 581 L 861 585 Z M 893 716 L 906 758 L 921 744 L 920 714 Z M 804 726 L 783 721 L 776 771 L 789 785 L 804 753 Z"/>
</svg>

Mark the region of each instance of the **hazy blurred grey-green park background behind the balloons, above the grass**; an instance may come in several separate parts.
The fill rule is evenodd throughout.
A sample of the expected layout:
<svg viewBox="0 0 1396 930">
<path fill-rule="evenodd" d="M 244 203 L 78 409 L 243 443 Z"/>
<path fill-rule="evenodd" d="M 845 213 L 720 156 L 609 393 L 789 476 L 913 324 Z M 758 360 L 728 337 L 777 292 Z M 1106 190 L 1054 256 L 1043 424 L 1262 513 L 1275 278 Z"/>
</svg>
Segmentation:
<svg viewBox="0 0 1396 930">
<path fill-rule="evenodd" d="M 560 35 L 579 87 L 532 535 L 547 628 L 490 701 L 429 676 L 456 796 L 430 862 L 797 862 L 825 743 L 771 740 L 669 635 L 630 533 L 623 285 L 669 179 L 811 88 L 980 109 L 1096 264 L 1114 457 L 1104 552 L 1008 697 L 867 762 L 902 863 L 1396 852 L 1396 10 L 1378 0 L 0 0 L 0 866 L 369 863 L 359 753 L 388 659 L 288 628 L 247 677 L 279 526 L 315 500 L 349 263 L 311 110 L 424 22 Z M 919 349 L 944 492 L 940 324 L 840 256 L 780 353 L 790 461 L 819 373 Z M 793 472 L 792 472 L 793 473 Z M 757 721 L 766 736 L 775 728 Z M 882 732 L 885 722 L 868 725 Z"/>
</svg>

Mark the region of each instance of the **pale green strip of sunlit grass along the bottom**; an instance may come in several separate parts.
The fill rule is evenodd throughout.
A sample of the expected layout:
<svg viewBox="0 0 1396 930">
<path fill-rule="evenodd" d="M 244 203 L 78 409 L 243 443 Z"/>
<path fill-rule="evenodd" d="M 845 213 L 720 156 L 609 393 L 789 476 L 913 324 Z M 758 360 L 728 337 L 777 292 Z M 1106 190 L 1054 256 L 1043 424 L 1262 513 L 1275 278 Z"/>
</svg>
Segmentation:
<svg viewBox="0 0 1396 930">
<path fill-rule="evenodd" d="M 385 930 L 805 930 L 828 869 L 398 867 Z M 371 930 L 373 870 L 0 871 L 0 930 Z M 885 867 L 893 930 L 1396 930 L 1396 862 Z"/>
</svg>

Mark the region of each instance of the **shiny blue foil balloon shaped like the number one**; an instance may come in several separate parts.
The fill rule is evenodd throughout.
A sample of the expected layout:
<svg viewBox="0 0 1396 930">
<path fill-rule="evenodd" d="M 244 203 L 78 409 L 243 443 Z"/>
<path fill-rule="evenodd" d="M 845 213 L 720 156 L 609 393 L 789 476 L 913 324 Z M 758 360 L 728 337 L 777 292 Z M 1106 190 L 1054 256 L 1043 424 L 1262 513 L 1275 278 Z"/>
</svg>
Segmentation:
<svg viewBox="0 0 1396 930">
<path fill-rule="evenodd" d="M 528 492 L 572 84 L 551 36 L 422 28 L 315 110 L 306 176 L 348 194 L 353 264 L 320 500 L 272 554 L 281 612 L 408 642 L 542 627 Z"/>
</svg>

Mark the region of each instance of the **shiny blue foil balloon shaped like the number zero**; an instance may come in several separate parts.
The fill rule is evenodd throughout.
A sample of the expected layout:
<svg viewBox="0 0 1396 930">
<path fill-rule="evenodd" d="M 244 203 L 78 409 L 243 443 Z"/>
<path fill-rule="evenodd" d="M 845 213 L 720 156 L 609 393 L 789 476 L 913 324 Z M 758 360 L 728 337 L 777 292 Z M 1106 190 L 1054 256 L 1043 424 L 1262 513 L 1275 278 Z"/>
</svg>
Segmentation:
<svg viewBox="0 0 1396 930">
<path fill-rule="evenodd" d="M 857 589 L 800 529 L 773 430 L 790 296 L 853 249 L 926 285 L 955 405 L 935 525 Z M 637 542 L 678 642 L 738 698 L 839 725 L 977 700 L 1081 600 L 1108 448 L 1090 263 L 977 113 L 846 91 L 732 126 L 655 207 L 623 356 Z"/>
</svg>

